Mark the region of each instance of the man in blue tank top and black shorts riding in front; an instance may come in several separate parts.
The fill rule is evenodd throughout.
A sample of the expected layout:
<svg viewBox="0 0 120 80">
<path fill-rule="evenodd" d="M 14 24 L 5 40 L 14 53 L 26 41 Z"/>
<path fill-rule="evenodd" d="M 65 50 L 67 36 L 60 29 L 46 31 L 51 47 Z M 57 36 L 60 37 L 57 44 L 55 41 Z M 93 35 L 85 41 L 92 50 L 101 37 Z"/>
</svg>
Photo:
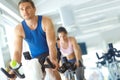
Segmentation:
<svg viewBox="0 0 120 80">
<path fill-rule="evenodd" d="M 28 43 L 32 58 L 38 58 L 41 65 L 49 55 L 55 69 L 48 70 L 55 80 L 61 80 L 57 72 L 57 51 L 54 26 L 50 18 L 36 16 L 36 8 L 32 0 L 20 0 L 19 11 L 24 19 L 15 28 L 14 56 L 13 60 L 21 63 L 23 39 Z M 42 68 L 44 72 L 44 68 Z M 54 74 L 55 73 L 55 74 Z"/>
</svg>

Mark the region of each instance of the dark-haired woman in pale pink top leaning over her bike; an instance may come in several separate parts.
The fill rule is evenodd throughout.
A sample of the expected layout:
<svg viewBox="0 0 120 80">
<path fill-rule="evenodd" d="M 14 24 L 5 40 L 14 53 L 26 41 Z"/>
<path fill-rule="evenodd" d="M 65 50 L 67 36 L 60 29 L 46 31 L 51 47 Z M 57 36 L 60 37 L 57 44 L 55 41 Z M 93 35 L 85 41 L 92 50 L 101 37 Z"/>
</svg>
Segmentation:
<svg viewBox="0 0 120 80">
<path fill-rule="evenodd" d="M 77 67 L 76 76 L 77 80 L 84 79 L 84 70 L 80 67 L 80 62 L 82 61 L 81 50 L 77 44 L 77 41 L 74 37 L 68 37 L 67 30 L 64 27 L 59 27 L 57 30 L 58 38 L 57 41 L 58 47 L 60 48 L 61 54 L 63 57 L 66 57 L 67 60 L 71 63 L 74 63 Z M 81 70 L 82 69 L 82 70 Z M 69 72 L 65 72 L 66 80 Z"/>
</svg>

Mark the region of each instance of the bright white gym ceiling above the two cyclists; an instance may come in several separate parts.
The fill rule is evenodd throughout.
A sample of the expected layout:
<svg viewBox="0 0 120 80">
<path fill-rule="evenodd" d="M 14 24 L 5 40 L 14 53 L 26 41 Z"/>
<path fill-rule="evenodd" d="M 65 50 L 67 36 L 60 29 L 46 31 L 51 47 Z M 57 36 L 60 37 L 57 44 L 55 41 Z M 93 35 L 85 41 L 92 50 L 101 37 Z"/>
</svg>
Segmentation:
<svg viewBox="0 0 120 80">
<path fill-rule="evenodd" d="M 90 47 L 120 41 L 120 0 L 33 1 L 37 7 L 36 14 L 51 17 L 56 29 L 65 24 L 61 14 L 64 10 L 68 16 L 66 21 L 72 19 L 71 24 L 65 27 L 69 35 L 76 37 L 78 42 L 86 42 Z M 2 13 L 16 22 L 22 20 L 17 9 L 18 2 L 19 0 L 0 0 Z M 5 10 L 3 6 L 8 10 Z M 0 24 L 8 23 L 4 18 L 2 19 L 3 22 Z"/>
</svg>

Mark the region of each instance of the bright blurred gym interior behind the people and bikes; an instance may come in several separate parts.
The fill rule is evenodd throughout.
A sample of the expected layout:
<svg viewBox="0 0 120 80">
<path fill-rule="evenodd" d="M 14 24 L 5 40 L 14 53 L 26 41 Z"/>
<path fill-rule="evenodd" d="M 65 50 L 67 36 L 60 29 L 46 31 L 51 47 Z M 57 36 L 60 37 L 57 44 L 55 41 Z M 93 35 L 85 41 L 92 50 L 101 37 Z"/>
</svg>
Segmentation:
<svg viewBox="0 0 120 80">
<path fill-rule="evenodd" d="M 19 1 L 0 0 L 0 67 L 6 67 L 13 55 L 13 30 L 23 20 L 18 11 Z M 64 26 L 77 39 L 83 51 L 86 79 L 91 74 L 87 73 L 89 70 L 96 70 L 96 52 L 107 52 L 108 43 L 120 50 L 120 0 L 33 1 L 36 14 L 50 17 L 55 30 Z M 23 51 L 27 51 L 25 42 L 23 46 Z M 1 72 L 0 80 L 7 80 Z"/>
</svg>

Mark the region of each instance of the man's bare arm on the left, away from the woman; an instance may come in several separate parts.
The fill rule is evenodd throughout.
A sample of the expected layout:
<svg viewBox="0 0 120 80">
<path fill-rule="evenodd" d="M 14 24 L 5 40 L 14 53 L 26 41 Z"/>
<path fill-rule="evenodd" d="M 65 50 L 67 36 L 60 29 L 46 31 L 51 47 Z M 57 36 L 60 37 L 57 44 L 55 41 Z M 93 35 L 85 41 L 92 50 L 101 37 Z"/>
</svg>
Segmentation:
<svg viewBox="0 0 120 80">
<path fill-rule="evenodd" d="M 13 59 L 16 60 L 18 63 L 21 63 L 21 56 L 22 56 L 22 26 L 19 24 L 16 26 L 14 30 L 14 54 Z"/>
</svg>

